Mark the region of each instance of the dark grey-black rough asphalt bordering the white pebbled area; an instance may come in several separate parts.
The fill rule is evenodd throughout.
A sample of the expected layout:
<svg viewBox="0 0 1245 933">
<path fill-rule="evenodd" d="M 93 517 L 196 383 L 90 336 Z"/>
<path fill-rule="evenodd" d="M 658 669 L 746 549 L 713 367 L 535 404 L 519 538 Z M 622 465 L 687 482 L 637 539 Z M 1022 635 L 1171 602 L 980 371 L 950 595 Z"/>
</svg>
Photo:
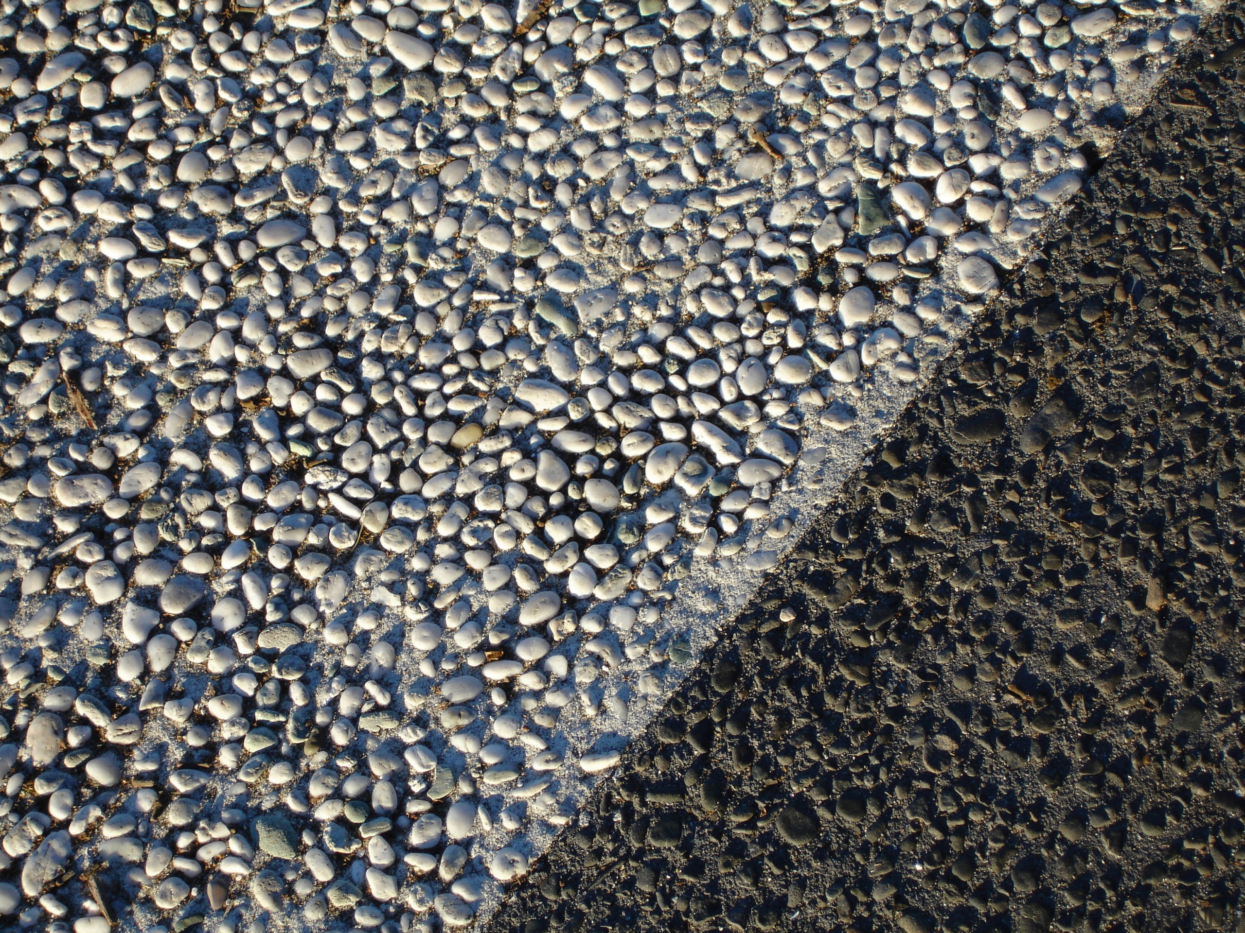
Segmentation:
<svg viewBox="0 0 1245 933">
<path fill-rule="evenodd" d="M 494 931 L 1240 928 L 1241 34 L 1194 44 Z"/>
</svg>

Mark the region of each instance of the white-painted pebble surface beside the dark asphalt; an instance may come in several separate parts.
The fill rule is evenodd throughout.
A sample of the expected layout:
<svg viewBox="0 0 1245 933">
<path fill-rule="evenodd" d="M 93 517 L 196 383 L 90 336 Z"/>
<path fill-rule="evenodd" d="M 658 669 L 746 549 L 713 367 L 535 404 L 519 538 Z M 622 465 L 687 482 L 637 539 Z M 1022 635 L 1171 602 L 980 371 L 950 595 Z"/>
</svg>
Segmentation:
<svg viewBox="0 0 1245 933">
<path fill-rule="evenodd" d="M 487 918 L 1208 11 L 6 2 L 0 904 Z"/>
</svg>

